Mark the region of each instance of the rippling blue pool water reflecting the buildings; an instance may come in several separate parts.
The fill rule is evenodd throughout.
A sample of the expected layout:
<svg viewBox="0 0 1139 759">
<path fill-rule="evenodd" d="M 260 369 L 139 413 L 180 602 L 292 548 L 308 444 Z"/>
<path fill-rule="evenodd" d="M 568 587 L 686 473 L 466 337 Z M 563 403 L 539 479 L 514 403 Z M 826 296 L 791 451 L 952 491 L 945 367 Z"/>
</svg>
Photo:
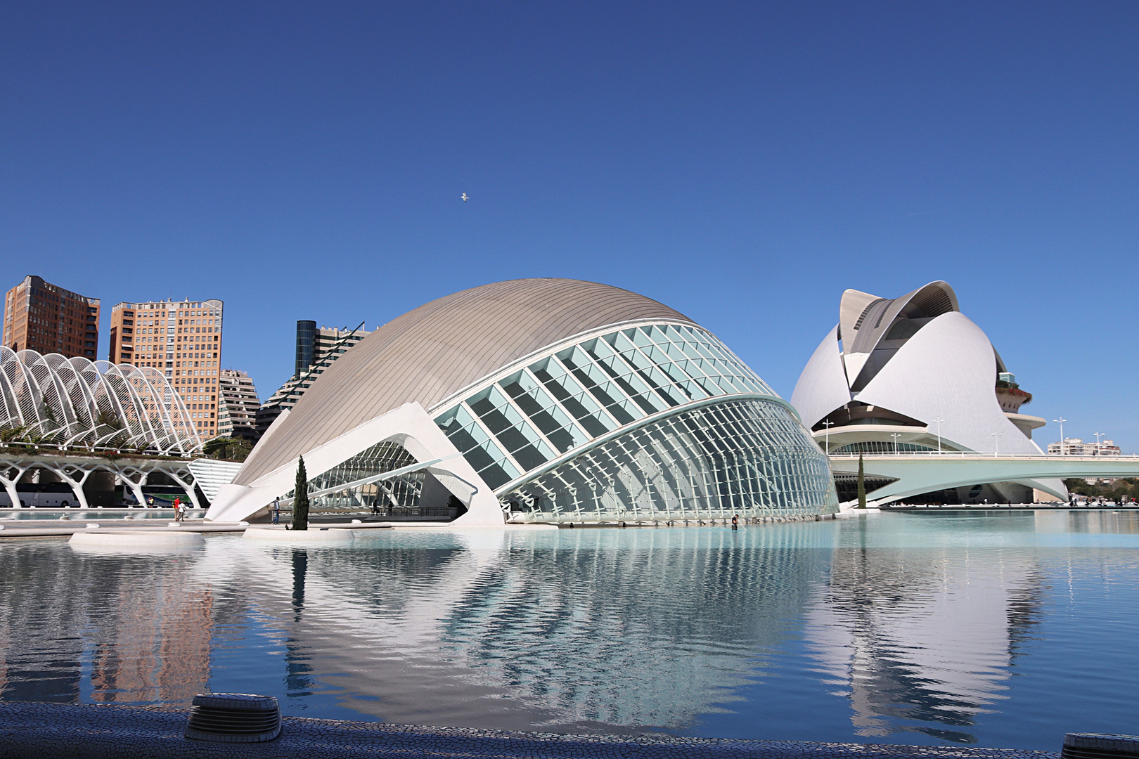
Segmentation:
<svg viewBox="0 0 1139 759">
<path fill-rule="evenodd" d="M 1139 732 L 1139 514 L 0 544 L 0 698 L 1058 750 Z"/>
</svg>

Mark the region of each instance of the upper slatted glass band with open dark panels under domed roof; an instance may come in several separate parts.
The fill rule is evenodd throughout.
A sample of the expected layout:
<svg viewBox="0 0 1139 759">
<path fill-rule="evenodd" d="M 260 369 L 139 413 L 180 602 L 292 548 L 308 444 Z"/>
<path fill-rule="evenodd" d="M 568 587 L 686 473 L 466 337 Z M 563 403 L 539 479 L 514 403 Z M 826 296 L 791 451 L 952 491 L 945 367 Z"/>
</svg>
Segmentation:
<svg viewBox="0 0 1139 759">
<path fill-rule="evenodd" d="M 728 395 L 776 396 L 710 332 L 650 324 L 558 350 L 435 422 L 497 489 L 648 415 Z"/>
</svg>

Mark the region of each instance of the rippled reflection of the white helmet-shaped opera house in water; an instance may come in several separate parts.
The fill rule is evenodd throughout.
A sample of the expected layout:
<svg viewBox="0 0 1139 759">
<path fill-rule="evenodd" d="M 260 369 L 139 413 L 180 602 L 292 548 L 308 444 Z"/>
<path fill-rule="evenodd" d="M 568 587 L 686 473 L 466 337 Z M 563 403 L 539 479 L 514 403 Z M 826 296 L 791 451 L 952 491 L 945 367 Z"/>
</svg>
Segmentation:
<svg viewBox="0 0 1139 759">
<path fill-rule="evenodd" d="M 844 545 L 811 599 L 805 637 L 849 698 L 857 735 L 970 743 L 976 715 L 1003 698 L 1041 586 L 1033 551 Z"/>
</svg>

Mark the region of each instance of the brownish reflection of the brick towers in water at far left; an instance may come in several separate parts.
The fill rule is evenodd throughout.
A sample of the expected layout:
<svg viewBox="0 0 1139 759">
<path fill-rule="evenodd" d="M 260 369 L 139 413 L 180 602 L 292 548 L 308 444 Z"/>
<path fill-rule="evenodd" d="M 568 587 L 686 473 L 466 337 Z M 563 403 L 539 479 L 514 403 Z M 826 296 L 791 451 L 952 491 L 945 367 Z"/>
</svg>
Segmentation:
<svg viewBox="0 0 1139 759">
<path fill-rule="evenodd" d="M 63 548 L 63 550 L 60 550 Z M 192 554 L 0 553 L 0 699 L 188 706 L 210 678 L 212 597 Z"/>
</svg>

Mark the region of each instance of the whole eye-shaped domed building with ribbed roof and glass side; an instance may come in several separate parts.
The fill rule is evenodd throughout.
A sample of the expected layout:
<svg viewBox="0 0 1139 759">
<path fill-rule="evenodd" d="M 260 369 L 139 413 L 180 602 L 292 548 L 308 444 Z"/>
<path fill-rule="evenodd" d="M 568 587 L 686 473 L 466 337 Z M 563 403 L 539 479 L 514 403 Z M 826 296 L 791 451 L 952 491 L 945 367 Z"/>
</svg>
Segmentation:
<svg viewBox="0 0 1139 759">
<path fill-rule="evenodd" d="M 208 519 L 501 525 L 825 514 L 829 463 L 714 335 L 620 288 L 498 282 L 394 319 L 282 413 Z"/>
</svg>

